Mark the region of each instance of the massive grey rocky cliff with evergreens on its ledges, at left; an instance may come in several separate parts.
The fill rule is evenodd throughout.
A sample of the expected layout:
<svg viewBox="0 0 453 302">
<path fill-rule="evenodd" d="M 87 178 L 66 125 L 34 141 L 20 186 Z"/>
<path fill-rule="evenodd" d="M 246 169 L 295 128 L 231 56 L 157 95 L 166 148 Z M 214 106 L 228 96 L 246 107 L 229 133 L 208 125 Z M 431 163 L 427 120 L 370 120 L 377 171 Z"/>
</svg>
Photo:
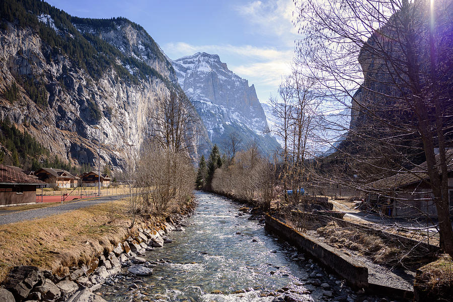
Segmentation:
<svg viewBox="0 0 453 302">
<path fill-rule="evenodd" d="M 74 164 L 95 163 L 97 124 L 101 165 L 124 167 L 143 141 L 149 106 L 180 90 L 159 46 L 126 19 L 74 18 L 39 1 L 3 5 L 0 118 Z M 13 85 L 19 93 L 6 97 Z"/>
</svg>

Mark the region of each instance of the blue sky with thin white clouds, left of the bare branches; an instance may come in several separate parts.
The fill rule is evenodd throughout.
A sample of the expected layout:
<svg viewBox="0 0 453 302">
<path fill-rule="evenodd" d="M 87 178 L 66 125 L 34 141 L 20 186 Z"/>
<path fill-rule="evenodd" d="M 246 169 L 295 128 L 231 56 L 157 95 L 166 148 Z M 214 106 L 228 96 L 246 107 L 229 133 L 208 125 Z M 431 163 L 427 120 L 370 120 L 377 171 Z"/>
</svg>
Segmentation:
<svg viewBox="0 0 453 302">
<path fill-rule="evenodd" d="M 294 41 L 292 0 L 47 0 L 84 18 L 125 17 L 141 26 L 171 58 L 218 54 L 254 84 L 260 102 L 276 95 L 290 71 Z"/>
</svg>

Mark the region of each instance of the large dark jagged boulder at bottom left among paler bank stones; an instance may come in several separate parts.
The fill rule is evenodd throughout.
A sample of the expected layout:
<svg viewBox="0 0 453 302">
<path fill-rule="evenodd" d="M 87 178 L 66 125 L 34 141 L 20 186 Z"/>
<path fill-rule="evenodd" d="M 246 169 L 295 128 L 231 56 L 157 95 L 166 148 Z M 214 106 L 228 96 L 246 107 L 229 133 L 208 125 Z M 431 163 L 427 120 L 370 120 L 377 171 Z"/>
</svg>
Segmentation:
<svg viewBox="0 0 453 302">
<path fill-rule="evenodd" d="M 36 266 L 22 265 L 15 266 L 8 274 L 4 287 L 11 291 L 18 300 L 28 296 L 35 285 L 41 285 L 44 275 Z"/>
</svg>

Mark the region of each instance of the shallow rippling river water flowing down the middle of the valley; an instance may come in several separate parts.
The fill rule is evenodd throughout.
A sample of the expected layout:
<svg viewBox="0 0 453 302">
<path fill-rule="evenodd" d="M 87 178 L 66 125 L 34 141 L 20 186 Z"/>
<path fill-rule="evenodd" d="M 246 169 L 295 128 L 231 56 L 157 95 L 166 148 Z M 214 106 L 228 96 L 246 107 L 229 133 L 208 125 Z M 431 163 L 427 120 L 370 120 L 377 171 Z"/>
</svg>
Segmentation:
<svg viewBox="0 0 453 302">
<path fill-rule="evenodd" d="M 153 275 L 120 275 L 98 290 L 102 297 L 117 302 L 272 301 L 283 288 L 298 301 L 327 298 L 319 284 L 304 285 L 317 265 L 295 259 L 293 248 L 249 215 L 238 216 L 240 205 L 203 192 L 196 198 L 199 204 L 185 231 L 170 233 L 172 243 L 141 256 L 156 264 Z"/>
</svg>

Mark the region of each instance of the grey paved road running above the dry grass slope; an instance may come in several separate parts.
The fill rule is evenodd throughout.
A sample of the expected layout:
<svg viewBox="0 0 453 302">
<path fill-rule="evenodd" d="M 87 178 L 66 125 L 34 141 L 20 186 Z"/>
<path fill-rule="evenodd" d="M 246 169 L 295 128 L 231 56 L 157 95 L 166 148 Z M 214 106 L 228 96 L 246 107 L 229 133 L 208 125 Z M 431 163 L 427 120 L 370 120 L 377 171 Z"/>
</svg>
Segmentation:
<svg viewBox="0 0 453 302">
<path fill-rule="evenodd" d="M 69 212 L 72 210 L 77 210 L 83 207 L 87 207 L 90 205 L 104 203 L 108 201 L 118 200 L 121 198 L 126 197 L 127 195 L 117 195 L 117 196 L 106 196 L 100 198 L 93 198 L 88 200 L 81 200 L 81 201 L 74 201 L 68 202 L 65 204 L 57 205 L 57 206 L 49 206 L 44 208 L 38 208 L 33 210 L 25 210 L 25 211 L 14 211 L 12 213 L 7 213 L 0 215 L 0 224 L 8 224 L 19 222 L 22 220 L 30 220 L 35 218 L 44 218 L 50 215 L 61 214 L 65 212 Z"/>
</svg>

